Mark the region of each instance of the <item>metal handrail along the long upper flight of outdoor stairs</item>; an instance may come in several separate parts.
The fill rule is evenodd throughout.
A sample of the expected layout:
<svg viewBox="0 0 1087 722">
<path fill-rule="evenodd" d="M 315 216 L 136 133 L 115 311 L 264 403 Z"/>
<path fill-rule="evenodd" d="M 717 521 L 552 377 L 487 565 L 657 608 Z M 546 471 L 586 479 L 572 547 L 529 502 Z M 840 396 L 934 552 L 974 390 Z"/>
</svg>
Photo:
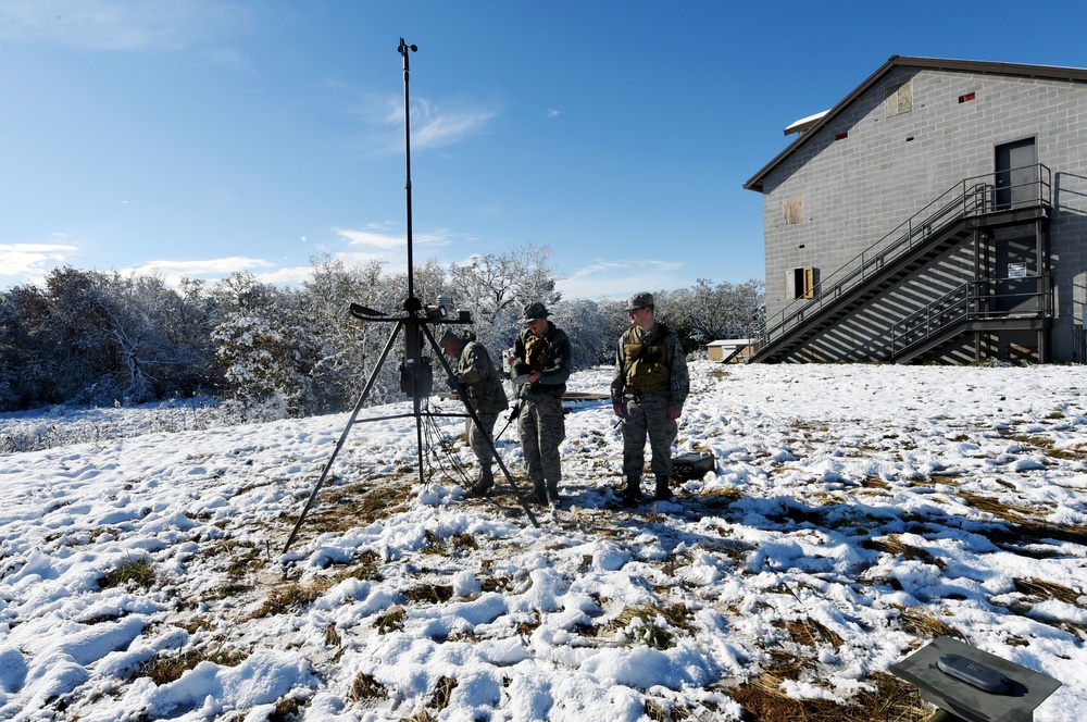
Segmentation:
<svg viewBox="0 0 1087 722">
<path fill-rule="evenodd" d="M 1015 186 L 1001 183 L 1016 171 L 1037 169 L 1035 179 Z M 1030 188 L 1030 197 L 1039 204 L 1052 206 L 1052 172 L 1041 163 L 965 178 L 940 194 L 890 233 L 846 262 L 840 269 L 821 278 L 811 289 L 812 298 L 798 298 L 766 320 L 757 348 L 765 348 L 799 326 L 808 316 L 840 299 L 878 271 L 930 240 L 952 223 L 985 213 L 1007 210 L 997 194 L 1010 194 L 1014 188 Z M 776 322 L 775 322 L 776 320 Z M 773 325 L 772 325 L 773 323 Z"/>
</svg>

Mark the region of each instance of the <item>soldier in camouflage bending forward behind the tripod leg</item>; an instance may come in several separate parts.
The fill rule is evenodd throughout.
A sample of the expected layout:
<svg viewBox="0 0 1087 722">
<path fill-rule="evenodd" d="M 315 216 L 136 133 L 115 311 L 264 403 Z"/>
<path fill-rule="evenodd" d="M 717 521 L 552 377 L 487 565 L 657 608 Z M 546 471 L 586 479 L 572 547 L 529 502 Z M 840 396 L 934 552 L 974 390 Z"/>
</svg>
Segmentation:
<svg viewBox="0 0 1087 722">
<path fill-rule="evenodd" d="M 453 375 L 464 389 L 467 397 L 465 401 L 472 404 L 472 410 L 483 425 L 480 430 L 468 418 L 465 426 L 468 444 L 479 460 L 479 480 L 468 490 L 468 495 L 486 496 L 495 485 L 491 469 L 495 461 L 495 422 L 498 421 L 498 414 L 510 407 L 505 389 L 502 388 L 502 378 L 491 363 L 487 348 L 475 340 L 474 336 L 465 338 L 447 329 L 438 346 L 446 356 L 457 360 Z"/>
</svg>

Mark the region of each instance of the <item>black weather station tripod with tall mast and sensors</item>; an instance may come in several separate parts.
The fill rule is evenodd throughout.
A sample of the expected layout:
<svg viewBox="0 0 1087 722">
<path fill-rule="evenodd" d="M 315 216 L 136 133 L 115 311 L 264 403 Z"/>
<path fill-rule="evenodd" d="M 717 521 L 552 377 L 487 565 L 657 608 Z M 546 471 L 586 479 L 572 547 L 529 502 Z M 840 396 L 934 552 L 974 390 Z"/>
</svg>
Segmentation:
<svg viewBox="0 0 1087 722">
<path fill-rule="evenodd" d="M 502 458 L 498 455 L 498 450 L 495 448 L 495 441 L 486 433 L 484 433 L 483 423 L 479 421 L 479 416 L 476 415 L 476 411 L 472 408 L 471 401 L 468 401 L 467 394 L 461 386 L 460 382 L 457 381 L 457 375 L 450 368 L 449 362 L 446 361 L 445 354 L 438 347 L 438 343 L 434 338 L 434 334 L 430 332 L 430 326 L 438 323 L 458 324 L 458 323 L 471 323 L 471 321 L 462 321 L 460 319 L 449 320 L 445 319 L 445 309 L 441 309 L 440 313 L 428 313 L 423 302 L 415 297 L 415 285 L 414 285 L 414 274 L 412 265 L 412 226 L 411 226 L 411 125 L 409 122 L 409 100 L 408 100 L 408 52 L 415 52 L 417 48 L 415 46 L 409 46 L 404 42 L 403 38 L 400 38 L 400 46 L 397 51 L 403 55 L 404 61 L 404 150 L 407 155 L 407 175 L 408 182 L 405 185 L 405 190 L 408 195 L 408 298 L 404 299 L 403 303 L 403 315 L 399 316 L 387 316 L 373 309 L 367 309 L 358 303 L 352 303 L 350 307 L 351 314 L 358 319 L 365 321 L 377 321 L 386 323 L 395 323 L 396 326 L 392 328 L 392 333 L 389 335 L 389 340 L 385 345 L 385 349 L 382 351 L 380 358 L 378 358 L 377 363 L 374 365 L 374 370 L 370 374 L 370 378 L 366 381 L 365 387 L 362 389 L 362 394 L 359 396 L 359 401 L 354 404 L 354 411 L 351 412 L 351 416 L 347 422 L 347 426 L 343 427 L 343 433 L 340 434 L 339 440 L 336 443 L 336 447 L 333 449 L 332 456 L 325 463 L 324 469 L 321 472 L 321 477 L 317 480 L 316 485 L 310 493 L 310 498 L 307 499 L 305 506 L 302 508 L 302 513 L 298 516 L 298 522 L 295 524 L 295 528 L 291 531 L 290 536 L 287 538 L 287 544 L 284 545 L 283 551 L 287 553 L 290 549 L 290 545 L 295 542 L 295 537 L 298 535 L 298 530 L 301 528 L 302 522 L 305 520 L 305 514 L 309 513 L 310 508 L 313 506 L 314 500 L 317 498 L 317 491 L 325 483 L 325 478 L 328 476 L 328 471 L 332 469 L 333 462 L 336 460 L 337 455 L 339 455 L 340 449 L 343 447 L 343 443 L 347 440 L 348 432 L 351 431 L 351 426 L 354 425 L 359 418 L 359 412 L 362 410 L 363 404 L 366 402 L 366 398 L 370 396 L 371 389 L 374 387 L 374 382 L 377 379 L 378 373 L 382 371 L 382 366 L 385 365 L 385 360 L 388 358 L 389 352 L 392 350 L 392 345 L 397 340 L 397 336 L 400 331 L 404 331 L 404 360 L 400 366 L 400 390 L 404 391 L 412 399 L 412 412 L 392 414 L 387 416 L 377 416 L 374 419 L 366 419 L 365 421 L 383 421 L 388 419 L 404 419 L 408 416 L 413 416 L 415 419 L 415 444 L 418 453 L 418 481 L 421 484 L 425 484 L 424 471 L 423 471 L 423 416 L 468 416 L 472 419 L 472 423 L 476 425 L 479 430 L 480 436 L 487 438 L 487 443 L 491 447 L 491 452 L 495 456 L 495 460 L 498 462 L 499 469 L 505 475 L 505 478 L 510 482 L 510 486 L 513 487 L 514 494 L 517 496 L 517 501 L 524 508 L 525 513 L 528 515 L 529 521 L 532 521 L 533 526 L 539 527 L 539 522 L 536 520 L 536 515 L 533 514 L 532 508 L 528 506 L 528 500 L 522 494 L 521 489 L 513 481 L 513 476 L 510 474 L 510 470 L 505 468 L 502 462 Z M 464 403 L 466 413 L 423 413 L 423 399 L 430 395 L 434 385 L 434 371 L 430 366 L 430 360 L 423 356 L 423 343 L 428 341 L 430 349 L 435 352 L 435 358 L 441 362 L 441 366 L 446 372 L 447 378 L 450 381 L 450 385 L 457 390 L 458 396 Z"/>
</svg>

